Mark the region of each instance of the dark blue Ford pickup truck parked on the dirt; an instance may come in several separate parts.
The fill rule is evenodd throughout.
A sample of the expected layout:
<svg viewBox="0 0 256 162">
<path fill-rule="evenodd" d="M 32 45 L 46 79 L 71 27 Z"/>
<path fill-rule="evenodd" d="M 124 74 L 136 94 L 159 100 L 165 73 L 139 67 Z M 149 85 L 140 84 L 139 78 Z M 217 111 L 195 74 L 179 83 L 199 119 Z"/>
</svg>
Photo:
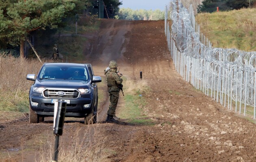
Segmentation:
<svg viewBox="0 0 256 162">
<path fill-rule="evenodd" d="M 83 117 L 85 124 L 97 122 L 98 82 L 91 64 L 45 63 L 38 75 L 28 74 L 34 81 L 29 91 L 29 122 L 38 123 L 54 116 L 54 103 L 67 102 L 65 117 Z"/>
</svg>

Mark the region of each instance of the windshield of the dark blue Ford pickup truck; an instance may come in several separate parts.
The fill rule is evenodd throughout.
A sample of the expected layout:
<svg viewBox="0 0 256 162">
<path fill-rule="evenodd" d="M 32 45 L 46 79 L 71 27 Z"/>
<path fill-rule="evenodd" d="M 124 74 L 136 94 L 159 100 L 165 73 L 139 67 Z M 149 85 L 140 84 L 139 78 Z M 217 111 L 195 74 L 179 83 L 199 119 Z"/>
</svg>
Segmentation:
<svg viewBox="0 0 256 162">
<path fill-rule="evenodd" d="M 88 72 L 84 67 L 44 66 L 38 76 L 40 79 L 88 80 Z"/>
</svg>

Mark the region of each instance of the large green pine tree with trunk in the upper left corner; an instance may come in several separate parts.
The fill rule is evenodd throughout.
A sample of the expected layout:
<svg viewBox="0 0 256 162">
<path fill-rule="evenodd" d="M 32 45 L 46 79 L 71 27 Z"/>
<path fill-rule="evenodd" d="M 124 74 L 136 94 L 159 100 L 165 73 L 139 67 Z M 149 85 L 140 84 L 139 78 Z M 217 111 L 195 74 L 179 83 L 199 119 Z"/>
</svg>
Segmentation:
<svg viewBox="0 0 256 162">
<path fill-rule="evenodd" d="M 82 11 L 87 0 L 1 0 L 0 39 L 11 45 L 20 45 L 24 57 L 24 41 L 30 32 L 57 28 L 62 19 Z"/>
</svg>

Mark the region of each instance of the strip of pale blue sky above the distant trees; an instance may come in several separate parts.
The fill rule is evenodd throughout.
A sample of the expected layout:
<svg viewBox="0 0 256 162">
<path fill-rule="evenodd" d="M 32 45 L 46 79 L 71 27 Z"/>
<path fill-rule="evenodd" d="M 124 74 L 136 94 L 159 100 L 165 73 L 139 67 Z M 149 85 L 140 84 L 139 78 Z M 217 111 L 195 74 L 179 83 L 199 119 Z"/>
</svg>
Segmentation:
<svg viewBox="0 0 256 162">
<path fill-rule="evenodd" d="M 171 0 L 119 0 L 123 4 L 119 8 L 130 8 L 132 10 L 156 10 L 165 11 L 165 5 L 169 6 Z"/>
</svg>

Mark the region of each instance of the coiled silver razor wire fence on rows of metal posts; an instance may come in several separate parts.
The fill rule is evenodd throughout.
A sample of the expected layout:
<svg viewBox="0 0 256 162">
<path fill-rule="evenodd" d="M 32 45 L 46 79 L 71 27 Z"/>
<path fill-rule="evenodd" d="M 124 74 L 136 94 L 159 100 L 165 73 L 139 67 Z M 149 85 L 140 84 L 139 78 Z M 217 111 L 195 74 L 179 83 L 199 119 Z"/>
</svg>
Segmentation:
<svg viewBox="0 0 256 162">
<path fill-rule="evenodd" d="M 192 5 L 173 0 L 169 27 L 165 11 L 165 35 L 177 72 L 205 95 L 230 110 L 256 117 L 256 51 L 213 48 L 200 33 Z"/>
</svg>

